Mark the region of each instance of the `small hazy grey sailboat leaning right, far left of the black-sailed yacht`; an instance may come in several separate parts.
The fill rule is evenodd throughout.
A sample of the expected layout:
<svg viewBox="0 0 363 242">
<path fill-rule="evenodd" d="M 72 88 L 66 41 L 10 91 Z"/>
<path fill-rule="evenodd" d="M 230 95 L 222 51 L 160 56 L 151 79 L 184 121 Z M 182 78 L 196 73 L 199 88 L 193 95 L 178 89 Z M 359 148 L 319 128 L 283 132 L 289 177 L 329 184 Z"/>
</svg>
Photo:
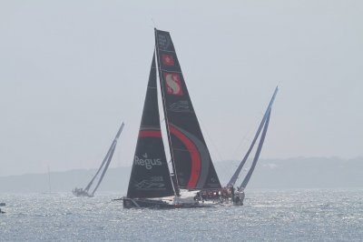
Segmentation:
<svg viewBox="0 0 363 242">
<path fill-rule="evenodd" d="M 76 196 L 76 197 L 93 197 L 94 196 L 94 193 L 96 192 L 97 188 L 100 186 L 100 184 L 103 180 L 103 176 L 106 174 L 108 166 L 110 166 L 111 160 L 113 158 L 113 152 L 117 145 L 117 140 L 120 137 L 121 132 L 123 132 L 123 126 L 124 126 L 124 124 L 122 124 L 120 126 L 116 136 L 113 139 L 112 145 L 110 146 L 109 150 L 107 151 L 106 156 L 104 156 L 104 158 L 103 158 L 103 162 L 102 162 L 101 166 L 98 168 L 96 174 L 93 176 L 91 181 L 88 183 L 87 187 L 85 187 L 84 189 L 75 187 L 74 190 L 72 190 L 72 193 L 74 194 L 74 196 Z M 102 173 L 101 173 L 101 171 L 102 171 Z M 101 176 L 99 177 L 96 186 L 93 188 L 93 191 L 90 193 L 89 190 L 93 186 L 93 182 L 95 181 L 96 177 L 100 173 L 101 173 Z"/>
</svg>

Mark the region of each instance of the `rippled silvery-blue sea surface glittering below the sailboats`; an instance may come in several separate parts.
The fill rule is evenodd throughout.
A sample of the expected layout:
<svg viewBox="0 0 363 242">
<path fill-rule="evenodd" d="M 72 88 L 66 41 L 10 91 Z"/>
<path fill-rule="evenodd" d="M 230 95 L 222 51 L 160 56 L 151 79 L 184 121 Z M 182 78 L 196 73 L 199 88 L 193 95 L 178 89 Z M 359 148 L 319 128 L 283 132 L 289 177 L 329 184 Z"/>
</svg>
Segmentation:
<svg viewBox="0 0 363 242">
<path fill-rule="evenodd" d="M 0 241 L 363 241 L 363 189 L 247 190 L 243 207 L 173 210 L 116 197 L 0 194 Z"/>
</svg>

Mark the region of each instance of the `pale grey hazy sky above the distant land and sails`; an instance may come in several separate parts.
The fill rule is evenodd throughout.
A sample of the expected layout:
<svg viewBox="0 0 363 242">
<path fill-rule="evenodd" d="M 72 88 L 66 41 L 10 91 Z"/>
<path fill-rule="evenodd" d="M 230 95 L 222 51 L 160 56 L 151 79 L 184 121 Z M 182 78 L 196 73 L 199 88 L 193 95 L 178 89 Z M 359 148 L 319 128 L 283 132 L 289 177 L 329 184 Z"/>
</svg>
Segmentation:
<svg viewBox="0 0 363 242">
<path fill-rule="evenodd" d="M 0 2 L 0 176 L 132 164 L 153 26 L 171 32 L 214 160 L 363 156 L 362 1 Z"/>
</svg>

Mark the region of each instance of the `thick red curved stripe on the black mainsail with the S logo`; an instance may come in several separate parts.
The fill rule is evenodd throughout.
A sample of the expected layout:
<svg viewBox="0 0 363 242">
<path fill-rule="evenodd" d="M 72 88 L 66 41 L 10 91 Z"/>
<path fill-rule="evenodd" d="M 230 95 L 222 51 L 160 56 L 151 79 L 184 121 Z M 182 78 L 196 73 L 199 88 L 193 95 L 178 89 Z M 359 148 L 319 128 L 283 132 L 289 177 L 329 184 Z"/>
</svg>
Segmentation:
<svg viewBox="0 0 363 242">
<path fill-rule="evenodd" d="M 182 134 L 182 132 L 174 126 L 169 126 L 169 130 L 172 135 L 178 137 L 182 141 L 182 144 L 186 146 L 191 156 L 191 176 L 188 181 L 188 188 L 195 188 L 197 186 L 199 176 L 201 175 L 201 156 L 199 151 L 194 143 L 191 142 L 191 139 Z"/>
</svg>

